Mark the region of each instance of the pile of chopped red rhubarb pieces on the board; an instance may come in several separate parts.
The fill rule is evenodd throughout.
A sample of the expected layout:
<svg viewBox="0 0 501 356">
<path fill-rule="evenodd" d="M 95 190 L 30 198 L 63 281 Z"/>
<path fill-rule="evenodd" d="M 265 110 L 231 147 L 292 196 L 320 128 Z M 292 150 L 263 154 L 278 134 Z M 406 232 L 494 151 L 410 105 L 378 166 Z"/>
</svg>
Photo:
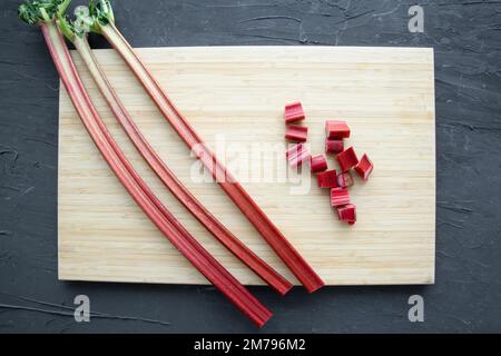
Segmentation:
<svg viewBox="0 0 501 356">
<path fill-rule="evenodd" d="M 285 106 L 285 123 L 287 125 L 285 138 L 297 142 L 291 144 L 286 151 L 288 164 L 292 168 L 296 168 L 310 161 L 310 170 L 316 174 L 318 187 L 331 189 L 331 205 L 336 209 L 340 220 L 354 225 L 356 206 L 351 201 L 348 191 L 355 182 L 352 170 L 366 181 L 374 165 L 366 154 L 358 159 L 353 147 L 344 148 L 344 140 L 350 138 L 351 131 L 346 121 L 342 120 L 325 122 L 325 155 L 311 155 L 305 146 L 308 129 L 297 123 L 297 121 L 304 123 L 305 118 L 301 102 Z M 335 155 L 338 172 L 336 169 L 328 169 L 326 155 Z"/>
</svg>

